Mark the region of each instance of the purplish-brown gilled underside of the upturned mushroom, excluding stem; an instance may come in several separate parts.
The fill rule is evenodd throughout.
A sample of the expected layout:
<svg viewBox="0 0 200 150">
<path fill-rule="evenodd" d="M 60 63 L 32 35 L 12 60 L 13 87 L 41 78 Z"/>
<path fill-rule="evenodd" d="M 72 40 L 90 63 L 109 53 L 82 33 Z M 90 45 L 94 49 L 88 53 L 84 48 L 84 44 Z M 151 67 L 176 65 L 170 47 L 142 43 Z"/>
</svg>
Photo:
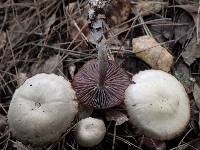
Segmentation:
<svg viewBox="0 0 200 150">
<path fill-rule="evenodd" d="M 90 60 L 75 75 L 72 83 L 78 100 L 87 106 L 106 109 L 121 104 L 129 85 L 126 72 L 113 61 L 108 61 L 108 70 L 103 88 L 98 86 L 99 67 L 97 60 Z"/>
</svg>

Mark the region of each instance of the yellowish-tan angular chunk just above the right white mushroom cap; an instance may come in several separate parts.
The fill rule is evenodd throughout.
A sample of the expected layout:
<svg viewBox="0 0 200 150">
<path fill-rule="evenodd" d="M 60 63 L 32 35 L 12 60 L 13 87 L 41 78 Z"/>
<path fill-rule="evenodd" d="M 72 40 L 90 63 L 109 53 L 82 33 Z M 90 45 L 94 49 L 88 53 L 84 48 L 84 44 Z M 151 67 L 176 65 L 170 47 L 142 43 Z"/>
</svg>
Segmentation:
<svg viewBox="0 0 200 150">
<path fill-rule="evenodd" d="M 137 57 L 145 61 L 154 69 L 170 71 L 173 63 L 173 56 L 167 49 L 160 46 L 150 36 L 141 36 L 132 40 L 133 52 Z"/>
</svg>

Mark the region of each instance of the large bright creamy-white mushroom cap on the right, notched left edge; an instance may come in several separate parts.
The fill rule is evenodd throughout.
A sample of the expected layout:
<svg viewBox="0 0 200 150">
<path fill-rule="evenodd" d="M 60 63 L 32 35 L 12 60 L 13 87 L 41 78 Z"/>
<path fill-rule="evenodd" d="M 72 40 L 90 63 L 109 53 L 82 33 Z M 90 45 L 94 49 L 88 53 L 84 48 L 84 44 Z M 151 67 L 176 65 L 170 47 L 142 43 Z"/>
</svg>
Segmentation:
<svg viewBox="0 0 200 150">
<path fill-rule="evenodd" d="M 141 71 L 125 92 L 129 121 L 146 136 L 170 140 L 184 131 L 190 104 L 183 85 L 160 70 Z"/>
</svg>

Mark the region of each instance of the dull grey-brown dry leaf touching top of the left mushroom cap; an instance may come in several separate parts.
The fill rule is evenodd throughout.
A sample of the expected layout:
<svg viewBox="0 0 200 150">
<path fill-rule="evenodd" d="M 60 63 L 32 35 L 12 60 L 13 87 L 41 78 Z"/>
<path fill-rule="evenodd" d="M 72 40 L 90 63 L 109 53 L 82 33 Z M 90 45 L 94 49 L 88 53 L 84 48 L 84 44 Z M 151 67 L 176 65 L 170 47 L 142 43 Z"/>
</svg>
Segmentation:
<svg viewBox="0 0 200 150">
<path fill-rule="evenodd" d="M 60 63 L 61 56 L 55 55 L 42 62 L 35 63 L 31 66 L 31 73 L 55 73 L 59 74 L 59 70 L 63 70 L 63 65 Z"/>
</svg>

